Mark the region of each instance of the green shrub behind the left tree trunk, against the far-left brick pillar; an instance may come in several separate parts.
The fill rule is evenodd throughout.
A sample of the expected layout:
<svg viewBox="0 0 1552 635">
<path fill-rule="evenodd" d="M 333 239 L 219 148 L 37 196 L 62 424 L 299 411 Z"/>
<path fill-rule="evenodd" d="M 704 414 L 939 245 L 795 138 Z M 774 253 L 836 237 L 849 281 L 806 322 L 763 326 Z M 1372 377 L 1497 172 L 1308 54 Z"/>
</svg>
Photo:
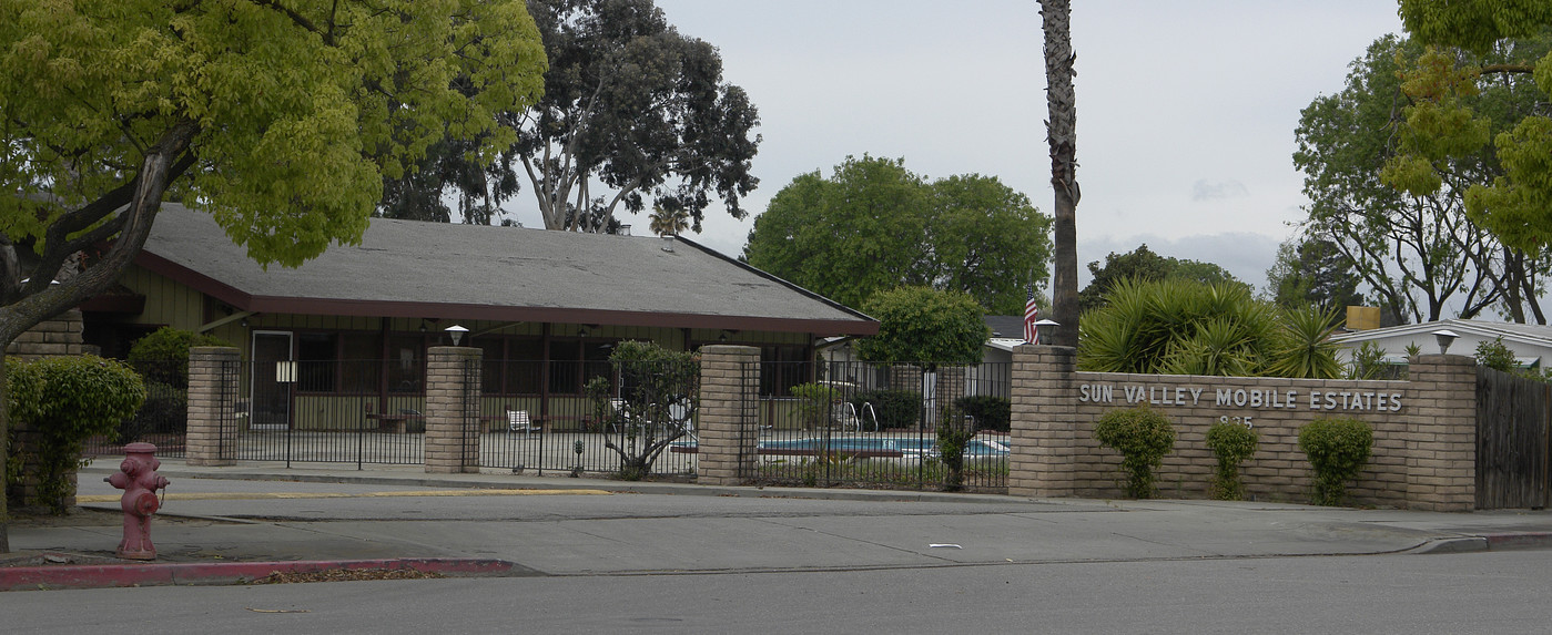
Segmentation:
<svg viewBox="0 0 1552 635">
<path fill-rule="evenodd" d="M 74 494 L 70 474 L 85 465 L 81 458 L 85 440 L 113 432 L 146 400 L 140 375 L 92 355 L 34 362 L 6 359 L 6 390 L 12 421 L 31 432 L 25 451 L 37 465 L 39 502 L 56 514 L 65 513 L 65 500 Z"/>
</svg>

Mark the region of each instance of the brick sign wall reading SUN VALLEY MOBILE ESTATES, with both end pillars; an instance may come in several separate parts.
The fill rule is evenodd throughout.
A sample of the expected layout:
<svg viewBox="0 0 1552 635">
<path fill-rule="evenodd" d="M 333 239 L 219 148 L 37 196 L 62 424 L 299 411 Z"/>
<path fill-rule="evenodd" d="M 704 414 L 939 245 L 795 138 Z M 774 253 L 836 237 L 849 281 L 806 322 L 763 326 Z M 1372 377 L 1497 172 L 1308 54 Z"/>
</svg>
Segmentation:
<svg viewBox="0 0 1552 635">
<path fill-rule="evenodd" d="M 1246 496 L 1307 502 L 1311 472 L 1299 427 L 1321 417 L 1374 427 L 1374 452 L 1349 489 L 1358 505 L 1470 510 L 1474 503 L 1474 362 L 1412 361 L 1412 381 L 1338 381 L 1088 373 L 1072 350 L 1013 352 L 1013 455 L 1009 491 L 1023 496 L 1124 497 L 1121 455 L 1094 440 L 1113 409 L 1147 404 L 1169 417 L 1175 451 L 1158 471 L 1161 497 L 1207 497 L 1215 460 L 1207 427 L 1246 420 L 1260 434 L 1242 468 Z M 1311 403 L 1313 401 L 1313 403 Z"/>
</svg>

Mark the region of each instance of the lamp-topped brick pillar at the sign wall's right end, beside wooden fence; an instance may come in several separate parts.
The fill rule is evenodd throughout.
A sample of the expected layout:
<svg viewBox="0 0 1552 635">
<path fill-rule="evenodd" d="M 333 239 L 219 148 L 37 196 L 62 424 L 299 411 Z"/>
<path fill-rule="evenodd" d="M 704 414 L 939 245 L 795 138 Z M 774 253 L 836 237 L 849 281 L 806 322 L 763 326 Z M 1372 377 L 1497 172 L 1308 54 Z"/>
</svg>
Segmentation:
<svg viewBox="0 0 1552 635">
<path fill-rule="evenodd" d="M 1476 508 L 1476 359 L 1420 355 L 1408 369 L 1406 499 L 1411 510 Z"/>
</svg>

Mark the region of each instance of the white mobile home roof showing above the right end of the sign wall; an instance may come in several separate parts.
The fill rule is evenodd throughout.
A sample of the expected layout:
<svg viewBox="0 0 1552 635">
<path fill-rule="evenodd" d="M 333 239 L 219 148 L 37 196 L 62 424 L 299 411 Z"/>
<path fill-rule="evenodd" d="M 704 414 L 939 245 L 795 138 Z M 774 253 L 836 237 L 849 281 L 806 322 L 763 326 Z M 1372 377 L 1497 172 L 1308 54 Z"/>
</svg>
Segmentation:
<svg viewBox="0 0 1552 635">
<path fill-rule="evenodd" d="M 1451 331 L 1457 336 L 1450 344 L 1450 353 L 1453 355 L 1476 355 L 1478 344 L 1502 338 L 1504 347 L 1515 353 L 1519 367 L 1543 369 L 1547 362 L 1552 362 L 1552 327 L 1536 324 L 1442 319 L 1437 322 L 1352 330 L 1332 336 L 1332 341 L 1341 347 L 1338 356 L 1344 362 L 1350 362 L 1353 352 L 1364 344 L 1374 344 L 1384 353 L 1386 364 L 1405 366 L 1408 347 L 1415 347 L 1423 355 L 1440 353 L 1439 341 L 1434 336 L 1436 331 Z"/>
</svg>

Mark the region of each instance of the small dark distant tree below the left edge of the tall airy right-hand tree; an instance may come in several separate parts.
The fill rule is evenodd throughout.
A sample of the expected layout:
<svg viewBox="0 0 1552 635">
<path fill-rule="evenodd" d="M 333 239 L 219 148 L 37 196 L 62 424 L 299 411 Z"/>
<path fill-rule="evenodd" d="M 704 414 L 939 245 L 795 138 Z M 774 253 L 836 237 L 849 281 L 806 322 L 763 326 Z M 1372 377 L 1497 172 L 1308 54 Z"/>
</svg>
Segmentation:
<svg viewBox="0 0 1552 635">
<path fill-rule="evenodd" d="M 1315 305 L 1322 310 L 1363 305 L 1347 259 L 1330 240 L 1296 235 L 1277 246 L 1277 260 L 1266 269 L 1271 300 L 1280 307 Z"/>
</svg>

